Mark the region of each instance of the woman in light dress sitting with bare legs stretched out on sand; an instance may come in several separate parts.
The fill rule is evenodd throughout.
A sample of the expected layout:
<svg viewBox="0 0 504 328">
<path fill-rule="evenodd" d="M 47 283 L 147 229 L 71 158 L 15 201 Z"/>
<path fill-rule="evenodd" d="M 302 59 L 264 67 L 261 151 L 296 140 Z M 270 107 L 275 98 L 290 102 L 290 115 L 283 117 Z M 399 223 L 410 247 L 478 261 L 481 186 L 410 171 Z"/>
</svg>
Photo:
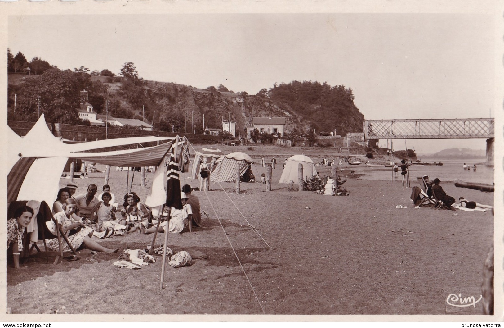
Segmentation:
<svg viewBox="0 0 504 328">
<path fill-rule="evenodd" d="M 67 236 L 68 241 L 72 245 L 74 249 L 79 248 L 82 244 L 89 248 L 90 250 L 104 253 L 116 253 L 119 249 L 110 249 L 105 248 L 98 244 L 97 242 L 91 240 L 91 236 L 93 236 L 94 230 L 86 227 L 84 223 L 81 221 L 75 222 L 72 220 L 72 214 L 75 212 L 77 208 L 77 202 L 73 198 L 67 199 L 63 203 L 63 211 L 57 212 L 54 214 L 54 218 L 60 226 L 61 231 Z M 56 235 L 56 227 L 54 226 L 54 222 L 47 221 L 47 228 Z M 71 230 L 76 230 L 75 234 L 70 235 Z M 53 251 L 59 250 L 59 244 L 57 238 L 53 238 L 47 242 L 47 247 L 49 247 Z M 67 243 L 62 243 L 63 251 L 68 252 L 71 251 L 70 247 Z"/>
</svg>

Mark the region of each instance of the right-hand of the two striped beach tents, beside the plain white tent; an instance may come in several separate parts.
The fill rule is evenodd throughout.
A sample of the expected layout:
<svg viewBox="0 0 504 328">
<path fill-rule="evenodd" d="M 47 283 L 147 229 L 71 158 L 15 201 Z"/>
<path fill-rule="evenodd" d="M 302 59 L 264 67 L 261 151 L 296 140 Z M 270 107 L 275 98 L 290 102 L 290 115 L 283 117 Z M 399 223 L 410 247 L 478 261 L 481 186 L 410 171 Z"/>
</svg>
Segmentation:
<svg viewBox="0 0 504 328">
<path fill-rule="evenodd" d="M 244 152 L 232 152 L 216 161 L 216 166 L 210 175 L 210 181 L 228 182 L 236 179 L 236 164 L 240 166 L 240 176 L 245 173 L 248 166 L 254 161 Z M 239 177 L 238 177 L 239 179 Z"/>
</svg>

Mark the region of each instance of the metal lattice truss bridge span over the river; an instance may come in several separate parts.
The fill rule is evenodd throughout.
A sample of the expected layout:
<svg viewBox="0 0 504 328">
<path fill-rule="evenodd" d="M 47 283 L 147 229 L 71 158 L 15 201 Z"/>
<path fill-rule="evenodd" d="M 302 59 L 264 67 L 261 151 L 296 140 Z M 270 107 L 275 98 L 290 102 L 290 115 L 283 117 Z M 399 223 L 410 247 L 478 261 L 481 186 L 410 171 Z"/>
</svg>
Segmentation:
<svg viewBox="0 0 504 328">
<path fill-rule="evenodd" d="M 364 139 L 493 138 L 494 119 L 364 120 Z"/>
</svg>

